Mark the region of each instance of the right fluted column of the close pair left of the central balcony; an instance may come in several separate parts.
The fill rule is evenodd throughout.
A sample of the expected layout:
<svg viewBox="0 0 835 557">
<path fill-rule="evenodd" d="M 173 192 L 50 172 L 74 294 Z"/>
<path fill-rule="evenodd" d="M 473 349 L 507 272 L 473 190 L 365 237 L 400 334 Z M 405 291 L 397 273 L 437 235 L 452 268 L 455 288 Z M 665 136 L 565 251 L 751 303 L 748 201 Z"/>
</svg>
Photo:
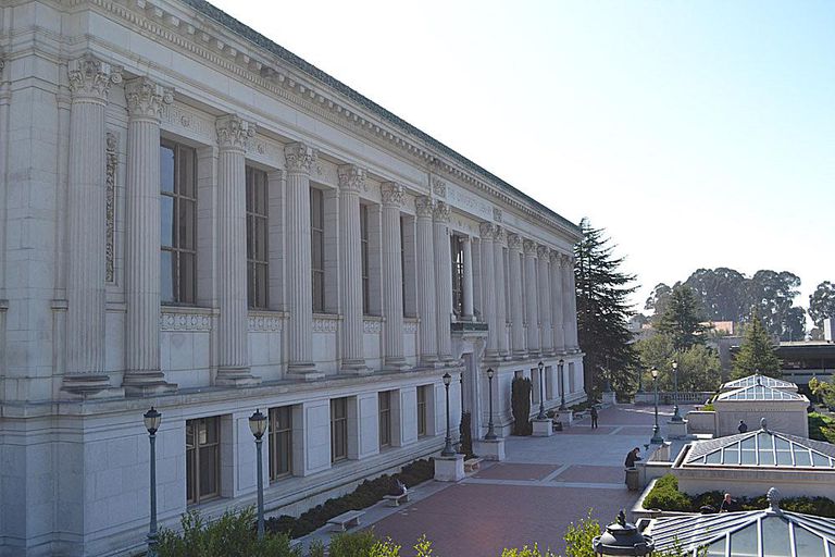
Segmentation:
<svg viewBox="0 0 835 557">
<path fill-rule="evenodd" d="M 449 205 L 435 201 L 435 300 L 437 305 L 438 359 L 452 359 L 452 249 L 449 239 Z"/>
</svg>

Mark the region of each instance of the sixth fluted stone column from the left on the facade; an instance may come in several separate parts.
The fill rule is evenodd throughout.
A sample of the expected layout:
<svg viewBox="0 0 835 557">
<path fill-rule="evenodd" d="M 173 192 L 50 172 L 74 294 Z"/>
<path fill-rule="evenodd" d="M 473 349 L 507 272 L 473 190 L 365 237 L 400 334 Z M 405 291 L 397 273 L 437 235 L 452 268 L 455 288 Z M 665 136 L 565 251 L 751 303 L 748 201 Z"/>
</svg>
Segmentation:
<svg viewBox="0 0 835 557">
<path fill-rule="evenodd" d="M 407 368 L 403 357 L 403 270 L 400 258 L 400 208 L 403 186 L 385 182 L 379 187 L 383 200 L 383 317 L 386 319 L 383 344 L 385 366 Z"/>
</svg>

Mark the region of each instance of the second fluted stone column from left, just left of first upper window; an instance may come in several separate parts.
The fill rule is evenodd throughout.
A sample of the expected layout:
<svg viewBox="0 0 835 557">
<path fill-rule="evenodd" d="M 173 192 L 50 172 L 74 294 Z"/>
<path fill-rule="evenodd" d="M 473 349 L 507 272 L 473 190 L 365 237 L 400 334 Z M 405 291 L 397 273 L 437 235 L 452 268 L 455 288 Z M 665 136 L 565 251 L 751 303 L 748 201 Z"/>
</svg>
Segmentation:
<svg viewBox="0 0 835 557">
<path fill-rule="evenodd" d="M 160 110 L 173 91 L 147 77 L 125 84 L 125 375 L 127 396 L 176 388 L 160 370 Z"/>
</svg>

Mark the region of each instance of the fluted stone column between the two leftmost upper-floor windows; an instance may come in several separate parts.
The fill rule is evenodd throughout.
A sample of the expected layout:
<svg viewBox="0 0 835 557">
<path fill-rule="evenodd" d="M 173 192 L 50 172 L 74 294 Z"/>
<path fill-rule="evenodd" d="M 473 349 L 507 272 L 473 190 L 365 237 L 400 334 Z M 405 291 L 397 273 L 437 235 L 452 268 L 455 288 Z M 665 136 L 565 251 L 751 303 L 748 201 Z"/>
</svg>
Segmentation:
<svg viewBox="0 0 835 557">
<path fill-rule="evenodd" d="M 217 377 L 216 385 L 253 385 L 247 339 L 247 161 L 256 126 L 229 114 L 217 132 Z"/>
</svg>

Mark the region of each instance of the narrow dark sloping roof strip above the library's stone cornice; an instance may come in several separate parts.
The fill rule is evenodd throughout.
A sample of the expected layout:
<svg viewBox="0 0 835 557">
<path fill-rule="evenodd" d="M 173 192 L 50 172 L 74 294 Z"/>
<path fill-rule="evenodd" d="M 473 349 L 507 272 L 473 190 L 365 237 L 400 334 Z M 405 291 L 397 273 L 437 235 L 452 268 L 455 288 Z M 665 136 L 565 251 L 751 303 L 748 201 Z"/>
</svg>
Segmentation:
<svg viewBox="0 0 835 557">
<path fill-rule="evenodd" d="M 422 132 L 418 127 L 413 126 L 409 122 L 404 121 L 403 119 L 397 116 L 396 114 L 389 112 L 388 110 L 384 109 L 376 102 L 372 101 L 367 97 L 357 92 L 354 89 L 348 87 L 339 79 L 331 76 L 329 74 L 326 74 L 319 67 L 314 66 L 310 62 L 307 62 L 302 58 L 299 58 L 298 55 L 294 54 L 286 48 L 282 47 L 281 45 L 277 45 L 276 42 L 270 40 L 269 38 L 264 37 L 257 30 L 252 29 L 251 27 L 242 24 L 235 17 L 230 16 L 223 10 L 216 8 L 215 5 L 210 4 L 209 2 L 204 0 L 182 0 L 186 4 L 190 5 L 201 14 L 205 15 L 207 17 L 212 18 L 213 21 L 220 23 L 224 27 L 226 27 L 228 30 L 235 33 L 236 35 L 240 36 L 241 38 L 249 40 L 250 42 L 253 42 L 258 47 L 263 48 L 264 50 L 267 50 L 278 57 L 279 59 L 284 60 L 285 62 L 291 64 L 297 70 L 308 74 L 310 77 L 321 82 L 322 84 L 335 89 L 341 95 L 345 95 L 352 101 L 361 104 L 365 109 L 370 110 L 377 116 L 382 117 L 389 124 L 399 127 L 407 134 L 410 134 L 418 139 L 424 141 L 425 144 L 432 146 L 434 149 L 437 149 L 445 156 L 449 157 L 450 159 L 453 159 L 459 164 L 463 165 L 464 168 L 469 169 L 472 172 L 475 172 L 476 174 L 481 174 L 485 178 L 487 178 L 489 182 L 491 182 L 494 185 L 498 186 L 501 189 L 504 189 L 504 191 L 509 195 L 520 197 L 527 203 L 536 207 L 537 209 L 547 212 L 554 219 L 557 219 L 561 224 L 564 226 L 573 230 L 577 234 L 579 234 L 579 226 L 574 224 L 573 222 L 569 221 L 561 214 L 557 213 L 552 209 L 549 209 L 548 207 L 544 206 L 533 197 L 528 196 L 527 194 L 524 194 L 523 191 L 520 191 L 515 187 L 511 186 L 500 177 L 496 176 L 491 172 L 485 170 L 483 166 L 479 166 L 475 162 L 471 161 L 463 154 L 459 153 L 458 151 L 451 149 L 450 147 L 447 147 L 443 143 L 438 141 L 431 135 L 428 135 L 425 132 Z"/>
</svg>

